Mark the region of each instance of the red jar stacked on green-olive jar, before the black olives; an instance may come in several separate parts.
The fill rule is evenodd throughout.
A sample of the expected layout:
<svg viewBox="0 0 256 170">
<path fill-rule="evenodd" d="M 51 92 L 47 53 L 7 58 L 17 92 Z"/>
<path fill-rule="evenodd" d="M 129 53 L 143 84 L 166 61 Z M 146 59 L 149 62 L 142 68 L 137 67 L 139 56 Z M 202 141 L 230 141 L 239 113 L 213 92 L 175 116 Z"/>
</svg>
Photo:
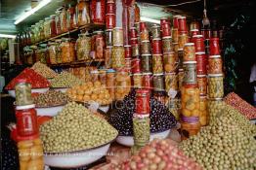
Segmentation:
<svg viewBox="0 0 256 170">
<path fill-rule="evenodd" d="M 150 137 L 150 92 L 149 89 L 136 90 L 136 110 L 133 116 L 134 146 L 132 153 L 138 153 L 149 143 Z"/>
</svg>

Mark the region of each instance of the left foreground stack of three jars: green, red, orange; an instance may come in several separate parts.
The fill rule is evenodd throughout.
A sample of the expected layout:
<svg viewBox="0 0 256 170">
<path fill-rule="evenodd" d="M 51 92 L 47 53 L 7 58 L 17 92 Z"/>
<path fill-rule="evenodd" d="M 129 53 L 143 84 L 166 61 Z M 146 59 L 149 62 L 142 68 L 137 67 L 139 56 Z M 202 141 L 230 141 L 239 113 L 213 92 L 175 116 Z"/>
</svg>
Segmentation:
<svg viewBox="0 0 256 170">
<path fill-rule="evenodd" d="M 39 137 L 31 85 L 19 80 L 15 86 L 17 141 L 21 169 L 44 169 L 43 144 Z"/>
</svg>

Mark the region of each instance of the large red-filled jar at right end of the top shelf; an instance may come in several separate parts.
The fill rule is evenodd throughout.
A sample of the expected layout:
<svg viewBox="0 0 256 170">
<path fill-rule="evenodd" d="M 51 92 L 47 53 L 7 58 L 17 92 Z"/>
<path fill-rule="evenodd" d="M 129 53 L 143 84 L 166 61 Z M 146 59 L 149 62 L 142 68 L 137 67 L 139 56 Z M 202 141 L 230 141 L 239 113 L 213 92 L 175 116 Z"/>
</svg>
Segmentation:
<svg viewBox="0 0 256 170">
<path fill-rule="evenodd" d="M 104 24 L 106 17 L 106 0 L 91 1 L 91 18 L 94 23 Z"/>
</svg>

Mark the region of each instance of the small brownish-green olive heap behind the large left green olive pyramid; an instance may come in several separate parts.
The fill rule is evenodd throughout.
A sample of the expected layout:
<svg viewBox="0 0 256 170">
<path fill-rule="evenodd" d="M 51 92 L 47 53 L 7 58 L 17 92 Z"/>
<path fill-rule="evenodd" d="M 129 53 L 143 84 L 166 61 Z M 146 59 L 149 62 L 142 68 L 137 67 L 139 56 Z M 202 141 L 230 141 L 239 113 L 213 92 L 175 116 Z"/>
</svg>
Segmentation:
<svg viewBox="0 0 256 170">
<path fill-rule="evenodd" d="M 36 107 L 58 106 L 66 104 L 68 101 L 70 101 L 70 98 L 66 94 L 52 89 L 34 97 Z"/>
</svg>

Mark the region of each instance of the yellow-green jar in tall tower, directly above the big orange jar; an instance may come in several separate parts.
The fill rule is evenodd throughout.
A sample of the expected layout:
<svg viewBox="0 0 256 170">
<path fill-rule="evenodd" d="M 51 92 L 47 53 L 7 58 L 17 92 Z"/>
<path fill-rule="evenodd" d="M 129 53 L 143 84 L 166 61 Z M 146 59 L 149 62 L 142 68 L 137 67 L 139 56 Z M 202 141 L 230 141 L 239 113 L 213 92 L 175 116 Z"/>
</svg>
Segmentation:
<svg viewBox="0 0 256 170">
<path fill-rule="evenodd" d="M 122 46 L 113 46 L 111 63 L 114 69 L 123 68 L 125 66 L 124 48 Z"/>
</svg>

